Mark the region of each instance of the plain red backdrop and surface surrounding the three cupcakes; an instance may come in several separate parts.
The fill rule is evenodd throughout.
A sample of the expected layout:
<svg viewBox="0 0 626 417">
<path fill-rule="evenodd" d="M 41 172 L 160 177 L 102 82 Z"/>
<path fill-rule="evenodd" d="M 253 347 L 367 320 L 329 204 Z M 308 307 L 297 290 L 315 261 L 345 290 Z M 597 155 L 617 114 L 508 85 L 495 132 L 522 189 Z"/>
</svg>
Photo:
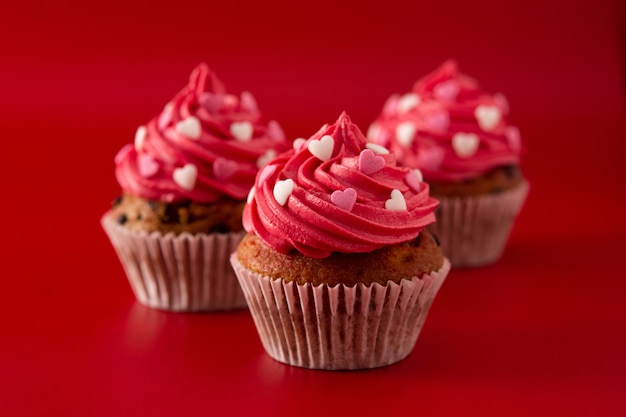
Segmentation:
<svg viewBox="0 0 626 417">
<path fill-rule="evenodd" d="M 0 6 L 0 415 L 626 414 L 617 1 L 40 3 Z M 532 188 L 405 361 L 292 368 L 247 311 L 134 301 L 99 225 L 113 156 L 197 63 L 295 138 L 343 110 L 365 130 L 450 57 L 509 98 Z"/>
</svg>

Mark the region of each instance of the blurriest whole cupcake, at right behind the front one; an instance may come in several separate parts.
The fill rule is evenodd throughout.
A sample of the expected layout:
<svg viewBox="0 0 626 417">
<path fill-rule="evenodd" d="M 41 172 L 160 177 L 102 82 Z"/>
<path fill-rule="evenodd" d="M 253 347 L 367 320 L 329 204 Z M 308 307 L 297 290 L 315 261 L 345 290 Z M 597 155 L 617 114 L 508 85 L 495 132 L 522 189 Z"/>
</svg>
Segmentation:
<svg viewBox="0 0 626 417">
<path fill-rule="evenodd" d="M 528 193 L 520 132 L 502 94 L 482 91 L 454 61 L 392 95 L 368 130 L 400 164 L 418 169 L 438 199 L 438 236 L 453 267 L 496 262 Z"/>
</svg>

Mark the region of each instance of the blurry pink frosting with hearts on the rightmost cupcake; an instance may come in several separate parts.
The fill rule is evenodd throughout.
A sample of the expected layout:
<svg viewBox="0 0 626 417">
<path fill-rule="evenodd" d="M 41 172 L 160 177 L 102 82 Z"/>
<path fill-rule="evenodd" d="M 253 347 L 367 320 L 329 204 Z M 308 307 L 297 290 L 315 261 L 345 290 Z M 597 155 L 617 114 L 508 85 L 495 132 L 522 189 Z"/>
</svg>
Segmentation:
<svg viewBox="0 0 626 417">
<path fill-rule="evenodd" d="M 447 61 L 410 93 L 392 95 L 368 139 L 421 169 L 427 181 L 462 181 L 519 164 L 520 133 L 508 124 L 508 113 L 502 94 L 483 92 Z"/>
</svg>

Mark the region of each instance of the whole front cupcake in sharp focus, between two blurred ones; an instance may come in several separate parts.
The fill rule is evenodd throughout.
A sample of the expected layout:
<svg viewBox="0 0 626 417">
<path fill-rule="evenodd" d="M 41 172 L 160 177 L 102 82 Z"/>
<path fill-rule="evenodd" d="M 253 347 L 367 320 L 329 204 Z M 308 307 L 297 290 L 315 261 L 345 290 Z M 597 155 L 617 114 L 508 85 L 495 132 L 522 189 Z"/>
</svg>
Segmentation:
<svg viewBox="0 0 626 417">
<path fill-rule="evenodd" d="M 436 206 L 345 113 L 268 163 L 231 256 L 267 353 L 314 369 L 405 358 L 450 267 L 425 229 Z"/>
</svg>

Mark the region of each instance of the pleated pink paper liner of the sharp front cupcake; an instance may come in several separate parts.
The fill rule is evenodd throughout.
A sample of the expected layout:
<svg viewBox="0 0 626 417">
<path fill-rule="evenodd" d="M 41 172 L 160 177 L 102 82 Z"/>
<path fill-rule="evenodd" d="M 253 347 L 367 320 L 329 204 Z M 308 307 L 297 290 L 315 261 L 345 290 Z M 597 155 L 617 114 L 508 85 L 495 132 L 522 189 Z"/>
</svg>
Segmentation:
<svg viewBox="0 0 626 417">
<path fill-rule="evenodd" d="M 383 286 L 298 285 L 231 263 L 266 352 L 298 367 L 368 369 L 399 362 L 412 351 L 450 270 Z"/>
</svg>

